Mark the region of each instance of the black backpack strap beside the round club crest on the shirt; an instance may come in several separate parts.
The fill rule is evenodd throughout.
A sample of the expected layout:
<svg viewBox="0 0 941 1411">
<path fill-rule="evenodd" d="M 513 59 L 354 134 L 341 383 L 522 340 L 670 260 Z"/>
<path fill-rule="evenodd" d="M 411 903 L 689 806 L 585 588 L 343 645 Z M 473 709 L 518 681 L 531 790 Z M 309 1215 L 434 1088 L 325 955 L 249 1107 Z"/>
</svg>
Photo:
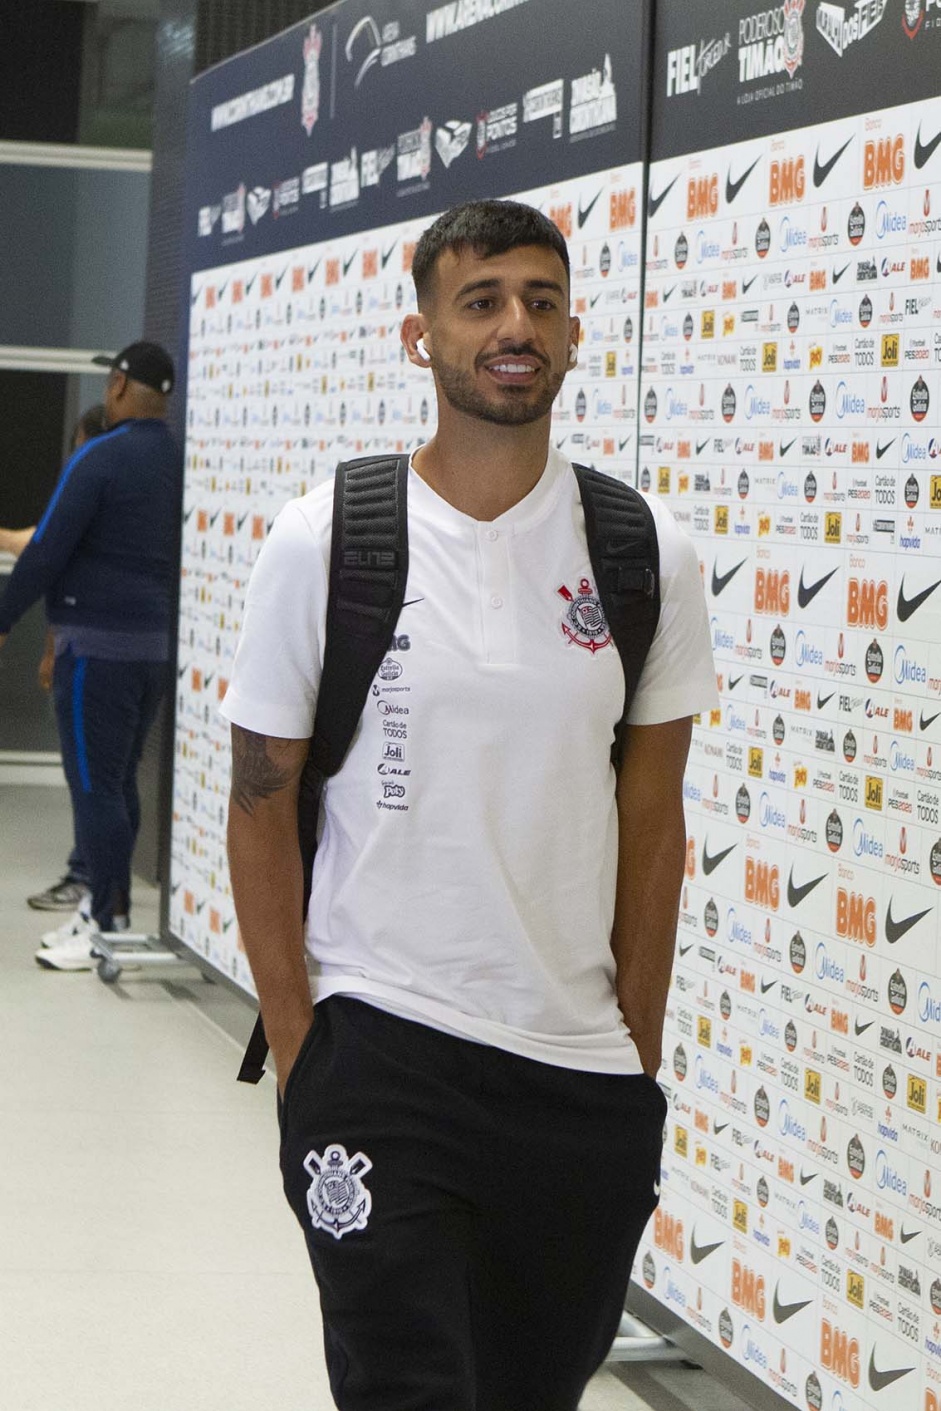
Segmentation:
<svg viewBox="0 0 941 1411">
<path fill-rule="evenodd" d="M 660 546 L 653 512 L 632 485 L 574 466 L 585 514 L 588 557 L 608 626 L 624 666 L 624 713 L 615 729 L 615 762 L 631 703 L 660 619 Z"/>
</svg>

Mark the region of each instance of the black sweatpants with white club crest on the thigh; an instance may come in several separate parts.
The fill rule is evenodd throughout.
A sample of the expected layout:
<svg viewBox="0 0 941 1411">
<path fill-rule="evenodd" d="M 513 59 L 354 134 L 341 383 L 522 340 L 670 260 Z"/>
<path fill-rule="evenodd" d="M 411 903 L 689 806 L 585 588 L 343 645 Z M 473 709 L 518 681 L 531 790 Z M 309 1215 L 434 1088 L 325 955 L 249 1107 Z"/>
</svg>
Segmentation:
<svg viewBox="0 0 941 1411">
<path fill-rule="evenodd" d="M 340 1411 L 576 1411 L 657 1204 L 664 1116 L 643 1075 L 319 1003 L 281 1170 Z"/>
</svg>

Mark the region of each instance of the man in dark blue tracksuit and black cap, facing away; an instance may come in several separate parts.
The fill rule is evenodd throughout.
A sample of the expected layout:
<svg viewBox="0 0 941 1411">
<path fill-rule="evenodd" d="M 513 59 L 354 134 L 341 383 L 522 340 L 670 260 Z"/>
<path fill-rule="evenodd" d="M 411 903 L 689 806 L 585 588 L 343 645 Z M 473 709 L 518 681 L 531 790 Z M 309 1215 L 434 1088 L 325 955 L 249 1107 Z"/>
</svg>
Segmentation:
<svg viewBox="0 0 941 1411">
<path fill-rule="evenodd" d="M 1 646 L 45 594 L 62 762 L 89 869 L 87 912 L 48 933 L 37 952 L 49 969 L 90 969 L 95 934 L 128 914 L 137 765 L 169 656 L 182 487 L 164 419 L 174 364 L 155 343 L 96 361 L 111 368 L 109 429 L 66 461 L 0 601 Z"/>
</svg>

